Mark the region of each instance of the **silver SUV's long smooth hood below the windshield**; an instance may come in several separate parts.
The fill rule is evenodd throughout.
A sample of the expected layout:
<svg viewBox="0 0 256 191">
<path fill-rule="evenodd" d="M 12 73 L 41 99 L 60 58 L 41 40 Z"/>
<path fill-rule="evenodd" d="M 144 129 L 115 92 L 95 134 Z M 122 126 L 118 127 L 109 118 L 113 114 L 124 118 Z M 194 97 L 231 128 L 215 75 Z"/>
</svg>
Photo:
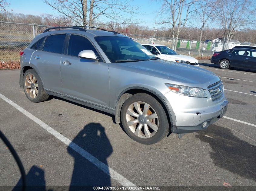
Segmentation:
<svg viewBox="0 0 256 191">
<path fill-rule="evenodd" d="M 204 89 L 207 89 L 209 85 L 220 80 L 217 75 L 204 68 L 198 68 L 191 65 L 184 65 L 182 63 L 166 60 L 126 62 L 118 63 L 118 65 L 129 67 L 129 70 L 133 72 L 165 79 L 166 83 L 201 87 Z M 131 69 L 131 67 L 134 69 Z"/>
</svg>

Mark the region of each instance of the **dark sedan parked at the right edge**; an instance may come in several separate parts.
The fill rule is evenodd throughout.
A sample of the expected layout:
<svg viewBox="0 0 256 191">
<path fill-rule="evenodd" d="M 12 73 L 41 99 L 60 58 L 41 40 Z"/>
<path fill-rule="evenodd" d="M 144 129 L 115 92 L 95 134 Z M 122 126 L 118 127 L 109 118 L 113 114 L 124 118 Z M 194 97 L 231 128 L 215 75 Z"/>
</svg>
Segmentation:
<svg viewBox="0 0 256 191">
<path fill-rule="evenodd" d="M 211 63 L 218 64 L 221 69 L 234 67 L 256 71 L 256 50 L 235 48 L 215 52 Z"/>
</svg>

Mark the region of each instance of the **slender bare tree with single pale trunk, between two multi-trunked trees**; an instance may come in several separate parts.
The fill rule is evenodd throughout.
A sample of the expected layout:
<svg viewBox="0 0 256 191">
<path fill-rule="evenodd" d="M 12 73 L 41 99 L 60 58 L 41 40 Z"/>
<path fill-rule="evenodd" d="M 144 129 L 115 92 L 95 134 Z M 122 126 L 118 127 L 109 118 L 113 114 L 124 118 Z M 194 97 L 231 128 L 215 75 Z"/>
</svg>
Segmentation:
<svg viewBox="0 0 256 191">
<path fill-rule="evenodd" d="M 199 48 L 198 54 L 201 50 L 201 41 L 203 36 L 203 30 L 208 21 L 211 21 L 216 11 L 219 8 L 219 0 L 203 0 L 196 2 L 196 11 L 194 12 L 194 16 L 196 21 L 198 21 L 199 29 L 200 29 L 200 38 L 199 38 Z"/>
</svg>

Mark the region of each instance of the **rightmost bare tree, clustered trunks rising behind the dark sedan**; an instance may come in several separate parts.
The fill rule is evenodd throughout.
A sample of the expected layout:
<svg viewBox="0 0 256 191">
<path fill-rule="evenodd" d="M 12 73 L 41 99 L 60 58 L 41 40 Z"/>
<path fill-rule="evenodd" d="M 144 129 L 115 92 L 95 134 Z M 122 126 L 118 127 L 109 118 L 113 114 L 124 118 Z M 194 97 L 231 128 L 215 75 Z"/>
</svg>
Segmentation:
<svg viewBox="0 0 256 191">
<path fill-rule="evenodd" d="M 255 23 L 255 0 L 224 0 L 218 18 L 223 30 L 223 49 L 227 49 L 231 38 L 238 30 L 251 28 Z"/>
</svg>

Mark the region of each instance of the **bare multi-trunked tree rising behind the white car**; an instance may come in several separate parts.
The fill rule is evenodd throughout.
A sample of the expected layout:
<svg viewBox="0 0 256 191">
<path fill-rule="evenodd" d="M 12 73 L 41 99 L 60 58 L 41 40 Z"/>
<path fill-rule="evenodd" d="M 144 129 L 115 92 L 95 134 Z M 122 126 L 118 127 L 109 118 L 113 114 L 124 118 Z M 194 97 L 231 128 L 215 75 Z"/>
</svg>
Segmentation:
<svg viewBox="0 0 256 191">
<path fill-rule="evenodd" d="M 161 16 L 162 21 L 157 23 L 168 24 L 171 27 L 171 38 L 173 39 L 172 49 L 176 51 L 176 41 L 179 37 L 181 27 L 186 25 L 188 16 L 195 10 L 193 7 L 195 0 L 161 0 L 161 2 L 159 16 Z M 185 19 L 182 19 L 182 14 L 184 13 Z"/>
</svg>

